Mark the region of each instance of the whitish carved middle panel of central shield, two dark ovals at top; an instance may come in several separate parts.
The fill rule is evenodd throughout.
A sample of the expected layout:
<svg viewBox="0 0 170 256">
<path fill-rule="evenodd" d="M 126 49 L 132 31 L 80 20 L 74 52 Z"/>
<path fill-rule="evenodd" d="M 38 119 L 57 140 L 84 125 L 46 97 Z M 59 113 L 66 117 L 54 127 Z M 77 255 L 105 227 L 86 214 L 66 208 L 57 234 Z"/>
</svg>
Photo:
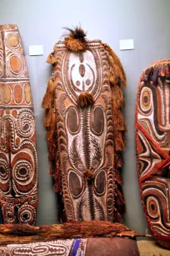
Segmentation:
<svg viewBox="0 0 170 256">
<path fill-rule="evenodd" d="M 106 117 L 101 105 L 92 110 L 77 110 L 70 106 L 66 111 L 67 148 L 72 165 L 79 172 L 92 169 L 97 172 L 102 166 Z M 93 171 L 93 172 L 94 172 Z"/>
</svg>

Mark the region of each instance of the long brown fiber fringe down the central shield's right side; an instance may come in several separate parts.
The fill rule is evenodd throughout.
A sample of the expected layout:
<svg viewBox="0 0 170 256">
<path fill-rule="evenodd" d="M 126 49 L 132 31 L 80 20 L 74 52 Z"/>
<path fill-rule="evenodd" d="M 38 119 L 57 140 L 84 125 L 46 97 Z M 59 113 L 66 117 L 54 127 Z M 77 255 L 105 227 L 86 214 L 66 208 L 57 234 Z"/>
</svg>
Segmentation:
<svg viewBox="0 0 170 256">
<path fill-rule="evenodd" d="M 115 150 L 115 212 L 114 221 L 122 222 L 121 215 L 125 212 L 125 201 L 122 194 L 122 151 L 125 149 L 125 131 L 127 127 L 124 117 L 122 115 L 122 108 L 124 106 L 124 97 L 122 88 L 126 87 L 126 75 L 122 68 L 122 64 L 117 55 L 107 45 L 103 44 L 107 51 L 107 58 L 109 61 L 109 80 L 112 89 L 112 117 L 113 117 L 113 136 L 114 136 L 114 150 Z"/>
</svg>

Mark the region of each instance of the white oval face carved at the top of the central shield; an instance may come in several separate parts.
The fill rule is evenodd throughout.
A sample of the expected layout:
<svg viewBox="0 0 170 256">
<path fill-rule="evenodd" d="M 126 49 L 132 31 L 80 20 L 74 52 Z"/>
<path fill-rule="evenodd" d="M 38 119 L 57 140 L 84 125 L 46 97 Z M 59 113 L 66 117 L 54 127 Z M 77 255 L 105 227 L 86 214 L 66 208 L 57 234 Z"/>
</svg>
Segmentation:
<svg viewBox="0 0 170 256">
<path fill-rule="evenodd" d="M 90 50 L 83 53 L 67 53 L 64 59 L 64 86 L 67 95 L 77 103 L 78 96 L 89 92 L 96 99 L 101 90 L 99 59 Z"/>
</svg>

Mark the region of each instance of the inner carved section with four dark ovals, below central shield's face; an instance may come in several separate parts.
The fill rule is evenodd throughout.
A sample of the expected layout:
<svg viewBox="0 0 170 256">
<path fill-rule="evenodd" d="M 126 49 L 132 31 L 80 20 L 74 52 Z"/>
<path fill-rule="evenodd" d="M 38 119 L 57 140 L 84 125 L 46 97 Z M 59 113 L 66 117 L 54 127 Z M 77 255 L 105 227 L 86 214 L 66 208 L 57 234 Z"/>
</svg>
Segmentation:
<svg viewBox="0 0 170 256">
<path fill-rule="evenodd" d="M 86 219 L 86 214 L 90 219 L 94 219 L 94 214 L 98 219 L 105 219 L 103 197 L 107 175 L 103 163 L 106 122 L 102 105 L 81 110 L 72 105 L 66 110 L 67 148 L 71 164 L 67 169 L 67 182 L 74 207 L 81 212 L 77 220 Z M 87 172 L 91 173 L 92 180 L 86 177 Z M 88 209 L 86 213 L 85 208 Z"/>
</svg>

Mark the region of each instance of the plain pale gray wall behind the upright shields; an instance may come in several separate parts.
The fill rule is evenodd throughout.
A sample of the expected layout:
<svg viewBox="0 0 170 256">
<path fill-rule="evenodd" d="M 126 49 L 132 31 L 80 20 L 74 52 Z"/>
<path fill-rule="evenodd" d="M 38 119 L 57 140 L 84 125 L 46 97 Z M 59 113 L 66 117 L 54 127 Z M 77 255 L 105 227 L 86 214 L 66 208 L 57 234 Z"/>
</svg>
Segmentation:
<svg viewBox="0 0 170 256">
<path fill-rule="evenodd" d="M 109 44 L 122 61 L 128 79 L 124 110 L 128 125 L 124 152 L 124 216 L 129 228 L 147 231 L 139 195 L 134 141 L 134 110 L 140 75 L 149 64 L 170 58 L 170 0 L 0 0 L 0 24 L 15 23 L 23 38 L 36 116 L 39 205 L 37 225 L 57 223 L 57 198 L 48 175 L 47 142 L 43 129 L 42 97 L 51 76 L 46 63 L 62 27 L 81 23 L 88 38 Z M 119 50 L 120 39 L 134 39 L 135 49 Z M 31 57 L 28 46 L 42 44 L 43 56 Z"/>
</svg>

